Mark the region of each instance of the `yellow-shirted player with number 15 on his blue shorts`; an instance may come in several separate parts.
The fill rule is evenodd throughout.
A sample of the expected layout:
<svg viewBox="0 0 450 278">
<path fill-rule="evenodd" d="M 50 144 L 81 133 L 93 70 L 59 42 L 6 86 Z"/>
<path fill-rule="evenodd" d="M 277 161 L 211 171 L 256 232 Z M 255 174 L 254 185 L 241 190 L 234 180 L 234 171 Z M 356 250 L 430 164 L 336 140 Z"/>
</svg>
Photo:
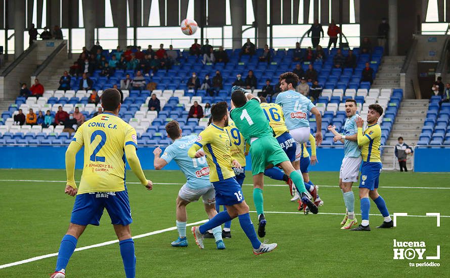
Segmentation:
<svg viewBox="0 0 450 278">
<path fill-rule="evenodd" d="M 211 108 L 212 123 L 200 132 L 197 142 L 188 151 L 191 158 L 203 157 L 209 165 L 210 181 L 215 189 L 215 200 L 218 205 L 227 207 L 208 222 L 201 226 L 192 227 L 197 245 L 203 249 L 203 235 L 209 229 L 238 217 L 245 235 L 250 240 L 255 255 L 271 252 L 277 247 L 276 243 L 265 244 L 258 240 L 255 228 L 250 220 L 249 207 L 244 200 L 241 186 L 236 180 L 232 166 L 240 168 L 241 165 L 233 159 L 230 152 L 230 136 L 224 130 L 228 126 L 228 105 L 219 102 Z M 203 148 L 204 151 L 200 149 Z"/>
</svg>

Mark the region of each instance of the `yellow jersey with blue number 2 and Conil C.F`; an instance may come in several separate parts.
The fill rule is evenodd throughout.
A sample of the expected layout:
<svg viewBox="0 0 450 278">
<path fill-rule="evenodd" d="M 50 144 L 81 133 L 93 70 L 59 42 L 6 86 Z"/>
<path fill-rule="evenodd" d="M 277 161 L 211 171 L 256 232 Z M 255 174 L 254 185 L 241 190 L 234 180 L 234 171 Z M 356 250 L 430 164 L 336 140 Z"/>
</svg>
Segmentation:
<svg viewBox="0 0 450 278">
<path fill-rule="evenodd" d="M 126 145 L 138 148 L 136 130 L 111 113 L 78 127 L 73 141 L 84 146 L 84 166 L 78 194 L 125 190 Z"/>
</svg>

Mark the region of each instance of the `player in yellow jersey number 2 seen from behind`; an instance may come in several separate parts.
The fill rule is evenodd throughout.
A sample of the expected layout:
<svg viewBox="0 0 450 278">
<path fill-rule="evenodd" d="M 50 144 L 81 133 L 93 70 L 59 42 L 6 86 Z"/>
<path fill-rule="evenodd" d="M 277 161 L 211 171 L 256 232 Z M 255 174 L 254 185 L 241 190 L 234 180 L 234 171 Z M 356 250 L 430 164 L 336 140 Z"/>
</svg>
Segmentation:
<svg viewBox="0 0 450 278">
<path fill-rule="evenodd" d="M 136 272 L 134 242 L 129 228 L 132 219 L 125 186 L 125 157 L 143 186 L 152 190 L 153 183 L 144 176 L 136 154 L 136 131 L 118 117 L 119 91 L 106 89 L 101 100 L 105 112 L 78 127 L 66 151 L 65 193 L 76 195 L 76 199 L 69 229 L 61 241 L 52 278 L 65 277 L 65 269 L 78 238 L 88 224 L 100 224 L 105 208 L 119 239 L 126 277 L 134 277 Z M 75 156 L 83 146 L 84 167 L 77 188 L 74 179 Z"/>
</svg>

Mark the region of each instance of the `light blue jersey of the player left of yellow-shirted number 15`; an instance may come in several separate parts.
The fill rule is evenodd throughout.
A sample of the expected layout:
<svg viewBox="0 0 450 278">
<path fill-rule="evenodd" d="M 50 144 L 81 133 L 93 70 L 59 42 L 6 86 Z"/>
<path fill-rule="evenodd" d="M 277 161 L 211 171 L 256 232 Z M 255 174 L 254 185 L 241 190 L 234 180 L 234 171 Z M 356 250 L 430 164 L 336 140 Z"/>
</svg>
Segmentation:
<svg viewBox="0 0 450 278">
<path fill-rule="evenodd" d="M 190 158 L 188 156 L 189 148 L 191 148 L 197 139 L 197 135 L 183 136 L 168 146 L 161 156 L 167 163 L 172 161 L 172 159 L 175 160 L 188 180 L 186 186 L 194 190 L 211 186 L 206 157 Z"/>
</svg>

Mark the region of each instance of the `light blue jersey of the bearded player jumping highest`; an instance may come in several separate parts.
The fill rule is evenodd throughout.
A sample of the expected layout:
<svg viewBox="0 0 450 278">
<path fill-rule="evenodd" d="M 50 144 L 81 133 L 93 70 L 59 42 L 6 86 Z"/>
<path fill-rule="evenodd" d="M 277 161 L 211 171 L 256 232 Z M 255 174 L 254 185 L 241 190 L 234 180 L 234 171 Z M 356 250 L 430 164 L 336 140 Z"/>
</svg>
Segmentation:
<svg viewBox="0 0 450 278">
<path fill-rule="evenodd" d="M 309 111 L 316 107 L 311 100 L 294 90 L 280 92 L 275 103 L 283 108 L 288 129 L 309 126 Z"/>
</svg>

